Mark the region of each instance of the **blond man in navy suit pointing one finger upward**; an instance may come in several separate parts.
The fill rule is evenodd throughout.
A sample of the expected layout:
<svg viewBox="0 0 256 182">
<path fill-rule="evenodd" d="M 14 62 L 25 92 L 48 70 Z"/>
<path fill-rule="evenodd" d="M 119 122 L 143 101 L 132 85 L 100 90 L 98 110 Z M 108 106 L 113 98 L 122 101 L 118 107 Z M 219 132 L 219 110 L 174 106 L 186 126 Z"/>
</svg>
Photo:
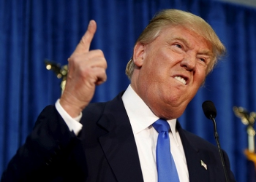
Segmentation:
<svg viewBox="0 0 256 182">
<path fill-rule="evenodd" d="M 107 103 L 90 103 L 107 78 L 102 51 L 89 50 L 95 31 L 91 20 L 68 59 L 63 95 L 39 115 L 2 181 L 160 181 L 158 119 L 170 124 L 167 152 L 179 181 L 225 181 L 217 147 L 176 121 L 225 52 L 211 26 L 177 9 L 159 12 L 135 44 L 131 84 Z M 224 159 L 235 181 L 225 152 Z"/>
</svg>

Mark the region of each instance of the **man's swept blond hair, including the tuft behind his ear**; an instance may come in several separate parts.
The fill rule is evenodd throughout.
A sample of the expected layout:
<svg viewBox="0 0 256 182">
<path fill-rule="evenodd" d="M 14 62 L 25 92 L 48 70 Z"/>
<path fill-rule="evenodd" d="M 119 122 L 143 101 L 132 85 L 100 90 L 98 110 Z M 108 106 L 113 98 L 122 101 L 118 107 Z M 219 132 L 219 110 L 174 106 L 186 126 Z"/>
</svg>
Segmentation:
<svg viewBox="0 0 256 182">
<path fill-rule="evenodd" d="M 163 9 L 152 20 L 148 23 L 147 27 L 140 34 L 135 44 L 149 44 L 159 36 L 162 29 L 170 25 L 182 25 L 189 30 L 195 31 L 204 39 L 209 41 L 213 47 L 213 58 L 208 64 L 207 74 L 212 71 L 214 66 L 217 64 L 217 60 L 225 54 L 226 49 L 219 37 L 211 28 L 211 25 L 206 23 L 203 18 L 193 15 L 190 12 L 184 12 L 178 9 Z M 133 58 L 127 63 L 126 74 L 129 79 L 132 78 L 132 74 L 135 68 Z"/>
</svg>

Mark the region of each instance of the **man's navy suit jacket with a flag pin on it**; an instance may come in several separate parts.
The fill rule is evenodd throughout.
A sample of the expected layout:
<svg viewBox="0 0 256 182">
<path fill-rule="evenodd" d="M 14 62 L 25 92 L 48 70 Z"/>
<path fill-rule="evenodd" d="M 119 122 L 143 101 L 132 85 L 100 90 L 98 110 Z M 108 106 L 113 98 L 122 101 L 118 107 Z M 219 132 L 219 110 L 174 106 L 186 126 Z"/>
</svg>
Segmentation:
<svg viewBox="0 0 256 182">
<path fill-rule="evenodd" d="M 69 132 L 55 106 L 46 107 L 26 143 L 10 161 L 1 182 L 142 182 L 138 151 L 122 94 L 109 102 L 87 106 L 78 136 Z M 184 146 L 189 181 L 225 181 L 217 147 L 183 130 L 178 122 L 176 127 Z M 228 177 L 235 181 L 225 152 L 224 158 Z"/>
</svg>

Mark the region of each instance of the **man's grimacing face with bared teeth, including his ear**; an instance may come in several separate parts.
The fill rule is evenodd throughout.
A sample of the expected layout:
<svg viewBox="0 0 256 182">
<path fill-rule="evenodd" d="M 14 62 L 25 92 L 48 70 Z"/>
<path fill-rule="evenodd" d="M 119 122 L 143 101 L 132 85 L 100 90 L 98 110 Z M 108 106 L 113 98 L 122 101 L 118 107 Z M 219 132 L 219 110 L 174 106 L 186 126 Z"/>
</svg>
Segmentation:
<svg viewBox="0 0 256 182">
<path fill-rule="evenodd" d="M 162 30 L 150 44 L 136 44 L 132 88 L 159 117 L 183 114 L 206 78 L 212 47 L 180 25 Z"/>
</svg>

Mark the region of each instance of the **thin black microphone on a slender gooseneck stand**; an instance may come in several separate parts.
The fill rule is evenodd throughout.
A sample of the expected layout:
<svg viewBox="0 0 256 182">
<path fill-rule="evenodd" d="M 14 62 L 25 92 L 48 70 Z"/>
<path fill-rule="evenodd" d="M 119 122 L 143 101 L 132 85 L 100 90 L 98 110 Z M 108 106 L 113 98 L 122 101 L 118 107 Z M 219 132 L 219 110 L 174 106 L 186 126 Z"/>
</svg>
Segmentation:
<svg viewBox="0 0 256 182">
<path fill-rule="evenodd" d="M 223 157 L 223 154 L 222 154 L 222 151 L 221 151 L 221 148 L 220 148 L 220 144 L 219 144 L 219 135 L 217 133 L 217 124 L 216 124 L 216 121 L 215 121 L 215 117 L 217 116 L 216 108 L 214 106 L 214 103 L 211 102 L 211 100 L 204 101 L 203 104 L 202 104 L 202 108 L 203 108 L 203 113 L 206 115 L 206 117 L 208 119 L 211 119 L 211 121 L 214 123 L 214 138 L 215 138 L 215 141 L 217 143 L 217 147 L 219 149 L 219 156 L 220 156 L 220 159 L 222 161 L 222 167 L 223 167 L 223 170 L 224 170 L 226 181 L 229 182 L 229 179 L 227 177 L 227 168 L 225 167 L 224 157 Z"/>
</svg>

